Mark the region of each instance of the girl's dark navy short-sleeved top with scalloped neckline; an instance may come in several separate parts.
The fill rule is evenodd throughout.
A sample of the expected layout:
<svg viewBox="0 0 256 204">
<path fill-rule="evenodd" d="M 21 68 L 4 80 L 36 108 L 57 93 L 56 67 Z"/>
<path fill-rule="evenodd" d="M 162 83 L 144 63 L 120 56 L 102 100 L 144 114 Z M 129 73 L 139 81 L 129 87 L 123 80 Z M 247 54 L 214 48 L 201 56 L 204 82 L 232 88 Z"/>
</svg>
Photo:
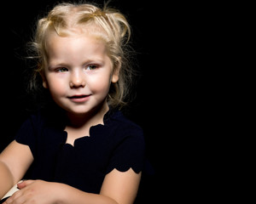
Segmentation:
<svg viewBox="0 0 256 204">
<path fill-rule="evenodd" d="M 145 157 L 142 128 L 120 111 L 108 111 L 103 122 L 90 127 L 90 137 L 84 135 L 71 145 L 66 143 L 66 120 L 60 111 L 38 111 L 29 116 L 15 137 L 18 143 L 29 145 L 34 157 L 26 178 L 99 193 L 105 175 L 113 168 L 141 172 Z"/>
</svg>

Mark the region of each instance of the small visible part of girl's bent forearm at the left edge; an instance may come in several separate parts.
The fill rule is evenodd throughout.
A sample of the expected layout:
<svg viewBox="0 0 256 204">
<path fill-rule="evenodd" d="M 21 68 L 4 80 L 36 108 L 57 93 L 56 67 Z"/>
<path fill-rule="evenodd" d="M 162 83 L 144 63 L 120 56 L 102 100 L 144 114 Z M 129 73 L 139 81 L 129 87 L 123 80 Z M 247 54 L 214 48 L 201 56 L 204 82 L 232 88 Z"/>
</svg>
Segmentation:
<svg viewBox="0 0 256 204">
<path fill-rule="evenodd" d="M 14 178 L 9 171 L 9 168 L 0 161 L 0 199 L 5 195 L 14 184 Z"/>
</svg>

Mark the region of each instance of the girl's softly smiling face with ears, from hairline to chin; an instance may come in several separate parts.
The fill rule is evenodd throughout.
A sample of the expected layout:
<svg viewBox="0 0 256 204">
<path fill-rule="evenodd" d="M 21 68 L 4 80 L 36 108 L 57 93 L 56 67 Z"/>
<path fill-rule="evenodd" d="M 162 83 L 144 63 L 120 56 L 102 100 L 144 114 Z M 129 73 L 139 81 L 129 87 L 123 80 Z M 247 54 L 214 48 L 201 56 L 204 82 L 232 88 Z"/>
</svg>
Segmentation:
<svg viewBox="0 0 256 204">
<path fill-rule="evenodd" d="M 48 66 L 43 73 L 44 88 L 68 114 L 81 115 L 107 105 L 113 73 L 104 42 L 90 36 L 59 37 L 50 34 Z"/>
</svg>

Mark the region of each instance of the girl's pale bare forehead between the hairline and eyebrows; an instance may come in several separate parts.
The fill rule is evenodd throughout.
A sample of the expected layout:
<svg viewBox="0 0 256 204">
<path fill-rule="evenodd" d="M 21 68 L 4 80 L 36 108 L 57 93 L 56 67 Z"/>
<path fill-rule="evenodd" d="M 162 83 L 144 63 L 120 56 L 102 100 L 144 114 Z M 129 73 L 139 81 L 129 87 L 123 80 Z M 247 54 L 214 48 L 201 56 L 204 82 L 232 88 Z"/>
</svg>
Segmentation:
<svg viewBox="0 0 256 204">
<path fill-rule="evenodd" d="M 45 63 L 53 59 L 64 60 L 63 56 L 66 56 L 65 60 L 67 56 L 76 60 L 112 59 L 106 34 L 97 26 L 73 26 L 61 32 L 51 29 L 47 31 L 44 40 Z"/>
</svg>

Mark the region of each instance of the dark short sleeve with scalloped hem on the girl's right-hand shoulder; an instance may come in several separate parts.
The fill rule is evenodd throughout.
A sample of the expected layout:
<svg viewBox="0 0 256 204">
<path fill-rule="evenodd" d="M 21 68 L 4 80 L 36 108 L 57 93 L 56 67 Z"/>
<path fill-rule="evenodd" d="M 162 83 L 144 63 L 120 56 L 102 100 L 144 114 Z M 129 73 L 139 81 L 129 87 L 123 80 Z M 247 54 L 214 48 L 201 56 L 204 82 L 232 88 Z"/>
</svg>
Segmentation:
<svg viewBox="0 0 256 204">
<path fill-rule="evenodd" d="M 114 168 L 126 172 L 130 168 L 139 173 L 143 170 L 145 160 L 145 143 L 143 130 L 140 127 L 126 127 L 118 133 L 122 139 L 116 145 L 111 156 L 107 173 Z"/>
</svg>

